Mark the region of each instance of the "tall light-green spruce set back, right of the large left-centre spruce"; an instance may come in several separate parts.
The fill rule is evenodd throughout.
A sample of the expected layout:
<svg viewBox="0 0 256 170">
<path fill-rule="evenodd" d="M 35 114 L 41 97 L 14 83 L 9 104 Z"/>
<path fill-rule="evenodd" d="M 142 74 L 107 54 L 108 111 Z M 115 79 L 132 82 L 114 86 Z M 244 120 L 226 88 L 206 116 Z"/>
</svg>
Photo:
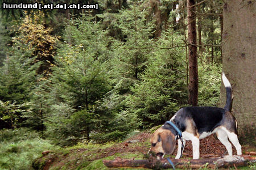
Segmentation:
<svg viewBox="0 0 256 170">
<path fill-rule="evenodd" d="M 117 15 L 117 27 L 126 37 L 115 48 L 114 70 L 119 73 L 117 88 L 121 94 L 130 91 L 130 87 L 140 79 L 152 52 L 152 29 L 154 25 L 146 19 L 147 11 L 138 2 Z"/>
</svg>

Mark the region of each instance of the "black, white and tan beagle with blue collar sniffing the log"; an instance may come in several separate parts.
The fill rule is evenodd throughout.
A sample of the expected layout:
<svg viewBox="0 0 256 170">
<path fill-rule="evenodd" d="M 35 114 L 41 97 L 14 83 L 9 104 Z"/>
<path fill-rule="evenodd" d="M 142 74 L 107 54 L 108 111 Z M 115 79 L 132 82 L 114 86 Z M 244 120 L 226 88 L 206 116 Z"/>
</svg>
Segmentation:
<svg viewBox="0 0 256 170">
<path fill-rule="evenodd" d="M 232 145 L 236 147 L 237 155 L 242 155 L 241 145 L 237 138 L 237 121 L 231 112 L 232 109 L 232 88 L 225 74 L 222 73 L 222 81 L 226 88 L 226 105 L 224 108 L 217 107 L 184 107 L 177 111 L 171 118 L 177 128 L 181 131 L 183 141 L 178 140 L 178 149 L 175 159 L 182 156 L 181 146 L 185 146 L 185 141 L 192 141 L 193 159 L 199 159 L 199 140 L 216 133 L 218 139 L 232 156 Z M 151 148 L 149 151 L 155 152 L 158 159 L 164 154 L 172 154 L 175 148 L 177 131 L 173 126 L 166 123 L 157 129 L 150 139 Z M 228 141 L 230 140 L 230 142 Z"/>
</svg>

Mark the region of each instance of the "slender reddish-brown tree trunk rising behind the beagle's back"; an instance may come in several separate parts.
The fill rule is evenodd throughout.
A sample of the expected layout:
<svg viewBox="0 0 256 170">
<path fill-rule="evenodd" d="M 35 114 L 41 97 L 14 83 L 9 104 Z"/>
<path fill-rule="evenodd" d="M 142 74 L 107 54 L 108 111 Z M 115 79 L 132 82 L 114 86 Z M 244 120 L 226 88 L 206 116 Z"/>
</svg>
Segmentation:
<svg viewBox="0 0 256 170">
<path fill-rule="evenodd" d="M 195 0 L 187 0 L 188 6 L 188 42 L 196 44 L 196 7 Z M 191 7 L 192 6 L 192 7 Z M 188 46 L 189 62 L 189 85 L 188 85 L 188 104 L 197 105 L 198 99 L 198 71 L 197 71 L 197 46 Z"/>
</svg>

